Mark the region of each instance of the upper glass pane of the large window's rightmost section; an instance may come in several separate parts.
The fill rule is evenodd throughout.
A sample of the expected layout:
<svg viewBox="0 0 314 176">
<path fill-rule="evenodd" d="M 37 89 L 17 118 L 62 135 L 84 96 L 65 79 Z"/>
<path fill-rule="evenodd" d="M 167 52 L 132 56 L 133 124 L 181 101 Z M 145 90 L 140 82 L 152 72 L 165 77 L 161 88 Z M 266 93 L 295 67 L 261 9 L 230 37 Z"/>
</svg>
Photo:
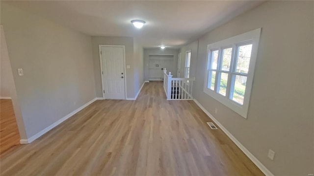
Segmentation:
<svg viewBox="0 0 314 176">
<path fill-rule="evenodd" d="M 252 44 L 242 45 L 238 47 L 236 72 L 248 73 L 251 59 Z"/>
</svg>

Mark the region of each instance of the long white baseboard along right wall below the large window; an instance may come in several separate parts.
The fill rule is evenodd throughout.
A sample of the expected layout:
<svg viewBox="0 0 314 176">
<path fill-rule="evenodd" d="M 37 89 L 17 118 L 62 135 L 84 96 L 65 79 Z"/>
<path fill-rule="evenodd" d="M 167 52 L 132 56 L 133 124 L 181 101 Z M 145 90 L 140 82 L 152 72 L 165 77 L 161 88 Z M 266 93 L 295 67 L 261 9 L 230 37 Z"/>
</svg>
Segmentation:
<svg viewBox="0 0 314 176">
<path fill-rule="evenodd" d="M 194 102 L 214 121 L 217 126 L 227 134 L 235 145 L 264 173 L 266 176 L 274 176 L 253 154 L 250 153 L 224 126 L 222 126 L 196 99 Z"/>
</svg>

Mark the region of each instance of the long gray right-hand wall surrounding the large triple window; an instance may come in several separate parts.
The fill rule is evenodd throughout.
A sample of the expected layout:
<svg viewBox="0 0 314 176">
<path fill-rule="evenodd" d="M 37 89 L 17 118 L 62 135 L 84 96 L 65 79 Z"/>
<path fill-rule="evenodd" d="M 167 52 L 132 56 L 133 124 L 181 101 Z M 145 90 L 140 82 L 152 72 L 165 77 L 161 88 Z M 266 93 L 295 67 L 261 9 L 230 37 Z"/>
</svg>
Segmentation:
<svg viewBox="0 0 314 176">
<path fill-rule="evenodd" d="M 260 27 L 245 119 L 203 92 L 207 45 Z M 314 173 L 313 31 L 313 1 L 266 1 L 201 37 L 191 61 L 194 98 L 276 176 Z"/>
</svg>

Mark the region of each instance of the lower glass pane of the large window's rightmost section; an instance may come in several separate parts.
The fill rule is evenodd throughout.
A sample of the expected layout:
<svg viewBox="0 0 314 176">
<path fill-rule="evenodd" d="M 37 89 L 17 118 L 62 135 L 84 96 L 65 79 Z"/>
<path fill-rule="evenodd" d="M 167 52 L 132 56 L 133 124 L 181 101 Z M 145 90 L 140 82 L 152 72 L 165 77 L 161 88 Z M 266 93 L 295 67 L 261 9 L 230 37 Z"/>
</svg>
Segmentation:
<svg viewBox="0 0 314 176">
<path fill-rule="evenodd" d="M 232 91 L 232 100 L 240 105 L 243 105 L 244 101 L 246 80 L 247 80 L 246 76 L 240 75 L 235 75 L 235 79 L 233 80 L 235 87 L 233 88 Z"/>
</svg>

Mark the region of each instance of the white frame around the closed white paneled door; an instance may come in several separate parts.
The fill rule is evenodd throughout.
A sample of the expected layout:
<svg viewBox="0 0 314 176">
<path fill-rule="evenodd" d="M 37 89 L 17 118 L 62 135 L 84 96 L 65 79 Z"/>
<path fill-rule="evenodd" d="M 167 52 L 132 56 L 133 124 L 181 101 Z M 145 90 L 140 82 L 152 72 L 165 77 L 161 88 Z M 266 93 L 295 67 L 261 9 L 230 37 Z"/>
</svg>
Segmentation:
<svg viewBox="0 0 314 176">
<path fill-rule="evenodd" d="M 102 47 L 122 47 L 123 48 L 123 68 L 124 68 L 124 99 L 127 99 L 127 69 L 126 69 L 126 47 L 125 45 L 106 45 L 106 44 L 100 44 L 99 45 L 99 59 L 100 59 L 100 74 L 102 76 L 102 93 L 103 93 L 103 99 L 105 100 L 105 86 L 104 86 L 104 75 L 103 75 L 103 58 L 102 58 Z"/>
</svg>

